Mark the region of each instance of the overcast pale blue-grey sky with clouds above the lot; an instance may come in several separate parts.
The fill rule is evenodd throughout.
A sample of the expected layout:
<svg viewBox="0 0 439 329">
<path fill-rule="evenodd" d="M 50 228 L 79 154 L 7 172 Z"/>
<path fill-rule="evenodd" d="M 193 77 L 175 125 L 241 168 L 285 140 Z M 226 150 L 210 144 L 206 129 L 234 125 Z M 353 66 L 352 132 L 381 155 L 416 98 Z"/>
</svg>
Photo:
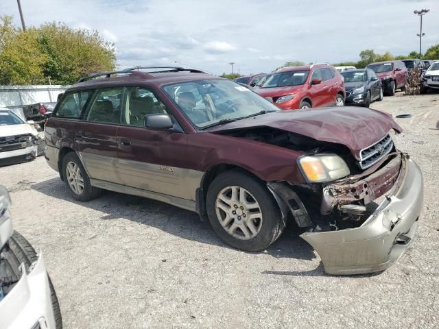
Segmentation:
<svg viewBox="0 0 439 329">
<path fill-rule="evenodd" d="M 26 25 L 63 21 L 115 43 L 119 68 L 189 64 L 213 73 L 269 72 L 288 60 L 358 60 L 362 49 L 394 55 L 439 43 L 439 0 L 21 0 Z M 0 0 L 14 16 L 16 0 Z M 180 64 L 178 64 L 180 65 Z"/>
</svg>

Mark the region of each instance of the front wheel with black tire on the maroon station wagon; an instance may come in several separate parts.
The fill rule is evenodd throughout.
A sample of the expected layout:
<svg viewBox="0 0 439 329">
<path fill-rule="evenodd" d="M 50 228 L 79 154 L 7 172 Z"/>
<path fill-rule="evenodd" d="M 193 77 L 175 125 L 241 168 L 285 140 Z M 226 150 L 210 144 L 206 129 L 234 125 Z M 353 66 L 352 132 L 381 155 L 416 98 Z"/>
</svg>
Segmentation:
<svg viewBox="0 0 439 329">
<path fill-rule="evenodd" d="M 222 241 L 248 252 L 267 248 L 285 228 L 268 188 L 244 171 L 219 174 L 207 191 L 206 208 L 213 230 Z"/>
</svg>

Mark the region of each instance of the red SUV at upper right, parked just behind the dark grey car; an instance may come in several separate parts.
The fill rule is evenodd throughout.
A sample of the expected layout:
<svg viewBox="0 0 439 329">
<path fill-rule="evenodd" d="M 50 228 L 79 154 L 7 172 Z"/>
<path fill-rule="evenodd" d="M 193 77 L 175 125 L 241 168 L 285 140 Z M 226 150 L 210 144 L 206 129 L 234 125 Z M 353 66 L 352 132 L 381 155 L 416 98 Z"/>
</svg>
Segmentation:
<svg viewBox="0 0 439 329">
<path fill-rule="evenodd" d="M 407 67 L 401 60 L 391 60 L 388 62 L 377 62 L 366 66 L 371 69 L 383 83 L 384 95 L 395 95 L 396 89 L 405 90 L 407 82 Z"/>
</svg>

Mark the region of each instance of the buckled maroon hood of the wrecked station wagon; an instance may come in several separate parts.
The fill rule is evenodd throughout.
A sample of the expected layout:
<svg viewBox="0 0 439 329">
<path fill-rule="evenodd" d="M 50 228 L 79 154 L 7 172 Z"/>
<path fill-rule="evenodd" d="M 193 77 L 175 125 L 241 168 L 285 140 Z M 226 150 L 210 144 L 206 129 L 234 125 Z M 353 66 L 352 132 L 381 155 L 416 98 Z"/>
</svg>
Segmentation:
<svg viewBox="0 0 439 329">
<path fill-rule="evenodd" d="M 390 130 L 403 131 L 388 113 L 351 106 L 282 110 L 217 125 L 208 131 L 220 133 L 251 127 L 272 127 L 309 136 L 317 141 L 346 145 L 357 160 L 361 149 L 377 142 Z"/>
</svg>

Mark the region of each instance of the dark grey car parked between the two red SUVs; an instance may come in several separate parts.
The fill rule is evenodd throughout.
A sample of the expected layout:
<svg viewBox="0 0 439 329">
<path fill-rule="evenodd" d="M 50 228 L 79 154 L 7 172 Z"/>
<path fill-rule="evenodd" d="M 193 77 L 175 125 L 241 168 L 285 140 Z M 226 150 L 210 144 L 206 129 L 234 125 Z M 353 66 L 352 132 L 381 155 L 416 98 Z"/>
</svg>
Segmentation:
<svg viewBox="0 0 439 329">
<path fill-rule="evenodd" d="M 361 105 L 368 108 L 371 101 L 383 99 L 383 84 L 371 69 L 344 71 L 346 104 Z"/>
</svg>

